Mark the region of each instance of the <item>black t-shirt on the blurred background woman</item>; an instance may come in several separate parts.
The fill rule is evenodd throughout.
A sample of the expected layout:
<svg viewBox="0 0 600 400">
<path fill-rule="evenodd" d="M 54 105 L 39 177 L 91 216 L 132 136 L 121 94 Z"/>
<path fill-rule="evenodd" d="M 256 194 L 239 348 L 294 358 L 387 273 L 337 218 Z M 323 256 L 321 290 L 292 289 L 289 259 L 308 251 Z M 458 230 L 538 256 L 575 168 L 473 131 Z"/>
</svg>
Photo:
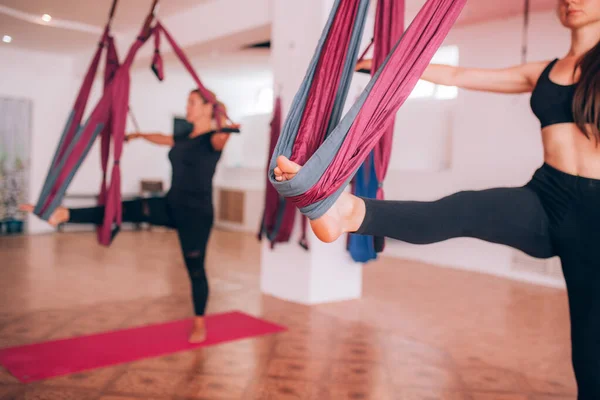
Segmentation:
<svg viewBox="0 0 600 400">
<path fill-rule="evenodd" d="M 214 149 L 210 140 L 214 133 L 174 138 L 175 145 L 169 151 L 172 169 L 169 201 L 190 207 L 202 207 L 206 201 L 212 201 L 212 180 L 221 158 L 221 152 Z"/>
</svg>

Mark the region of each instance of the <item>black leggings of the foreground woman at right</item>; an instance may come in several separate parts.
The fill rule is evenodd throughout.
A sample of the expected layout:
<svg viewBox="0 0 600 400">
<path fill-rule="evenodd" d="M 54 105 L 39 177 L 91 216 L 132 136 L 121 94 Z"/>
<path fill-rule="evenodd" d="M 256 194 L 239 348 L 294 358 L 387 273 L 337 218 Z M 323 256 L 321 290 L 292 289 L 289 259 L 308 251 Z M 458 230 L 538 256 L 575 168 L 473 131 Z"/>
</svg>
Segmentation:
<svg viewBox="0 0 600 400">
<path fill-rule="evenodd" d="M 414 244 L 471 237 L 537 258 L 558 256 L 578 399 L 600 399 L 600 180 L 544 164 L 523 187 L 466 191 L 433 202 L 364 200 L 358 234 Z"/>
</svg>

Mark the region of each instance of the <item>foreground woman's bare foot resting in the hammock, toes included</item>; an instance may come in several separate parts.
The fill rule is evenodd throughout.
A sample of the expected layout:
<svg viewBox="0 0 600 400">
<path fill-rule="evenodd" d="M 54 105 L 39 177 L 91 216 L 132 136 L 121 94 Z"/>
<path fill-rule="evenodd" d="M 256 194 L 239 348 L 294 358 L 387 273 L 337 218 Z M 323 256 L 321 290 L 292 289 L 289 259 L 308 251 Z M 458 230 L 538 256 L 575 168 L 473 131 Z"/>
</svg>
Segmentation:
<svg viewBox="0 0 600 400">
<path fill-rule="evenodd" d="M 284 156 L 277 158 L 274 169 L 276 181 L 292 179 L 302 168 Z M 343 192 L 325 215 L 310 221 L 317 238 L 325 243 L 337 240 L 343 233 L 356 232 L 365 218 L 365 202 L 350 193 Z"/>
</svg>

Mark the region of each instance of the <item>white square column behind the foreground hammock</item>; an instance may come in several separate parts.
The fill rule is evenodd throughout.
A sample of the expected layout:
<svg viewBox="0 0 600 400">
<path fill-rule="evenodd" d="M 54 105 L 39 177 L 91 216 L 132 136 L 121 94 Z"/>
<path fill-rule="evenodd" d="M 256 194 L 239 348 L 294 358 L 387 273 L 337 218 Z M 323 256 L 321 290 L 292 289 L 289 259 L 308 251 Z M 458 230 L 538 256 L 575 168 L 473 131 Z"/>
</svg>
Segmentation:
<svg viewBox="0 0 600 400">
<path fill-rule="evenodd" d="M 272 47 L 274 89 L 280 91 L 283 115 L 287 115 L 294 95 L 306 73 L 333 0 L 273 0 Z M 371 32 L 367 28 L 363 42 Z M 363 82 L 364 84 L 364 82 Z M 364 86 L 363 86 L 364 87 Z M 351 88 L 349 101 L 356 97 Z M 310 250 L 298 244 L 300 214 L 290 243 L 270 248 L 263 242 L 261 290 L 263 293 L 302 304 L 360 298 L 362 265 L 346 251 L 346 236 L 335 243 L 319 241 L 309 228 Z"/>
</svg>

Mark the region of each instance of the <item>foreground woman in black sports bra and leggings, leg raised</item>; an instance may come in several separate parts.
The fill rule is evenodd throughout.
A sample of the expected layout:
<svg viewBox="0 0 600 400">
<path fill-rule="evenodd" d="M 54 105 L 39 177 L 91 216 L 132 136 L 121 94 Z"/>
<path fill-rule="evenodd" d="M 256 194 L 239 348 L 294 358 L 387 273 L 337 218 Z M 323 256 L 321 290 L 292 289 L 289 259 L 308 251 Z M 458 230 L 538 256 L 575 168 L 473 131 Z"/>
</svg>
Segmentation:
<svg viewBox="0 0 600 400">
<path fill-rule="evenodd" d="M 600 400 L 600 0 L 559 0 L 558 15 L 572 38 L 562 59 L 498 70 L 430 65 L 422 77 L 471 90 L 532 92 L 544 164 L 529 183 L 433 202 L 378 201 L 345 192 L 311 226 L 325 242 L 344 232 L 415 244 L 472 237 L 538 258 L 560 257 L 578 399 Z M 299 169 L 280 157 L 274 173 L 286 180 Z"/>
</svg>

